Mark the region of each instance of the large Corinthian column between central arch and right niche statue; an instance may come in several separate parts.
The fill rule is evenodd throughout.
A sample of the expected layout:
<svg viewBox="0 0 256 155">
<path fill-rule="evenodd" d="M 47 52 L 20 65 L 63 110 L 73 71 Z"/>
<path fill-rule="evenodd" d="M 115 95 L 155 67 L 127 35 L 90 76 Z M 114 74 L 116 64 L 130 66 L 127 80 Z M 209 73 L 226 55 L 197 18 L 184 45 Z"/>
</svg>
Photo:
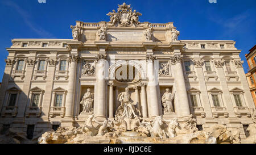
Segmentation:
<svg viewBox="0 0 256 155">
<path fill-rule="evenodd" d="M 148 89 L 150 92 L 150 101 L 148 105 L 148 110 L 150 111 L 150 116 L 155 117 L 162 115 L 160 111 L 160 91 L 158 83 L 158 74 L 155 72 L 154 68 L 154 55 L 147 55 L 147 77 L 148 77 Z"/>
</svg>

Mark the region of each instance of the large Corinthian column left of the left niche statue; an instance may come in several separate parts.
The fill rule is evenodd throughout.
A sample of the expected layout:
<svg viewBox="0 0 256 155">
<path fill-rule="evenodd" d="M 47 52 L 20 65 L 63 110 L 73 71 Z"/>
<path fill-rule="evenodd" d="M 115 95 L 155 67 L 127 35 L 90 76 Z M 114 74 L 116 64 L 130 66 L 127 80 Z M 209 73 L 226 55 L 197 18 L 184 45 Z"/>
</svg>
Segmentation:
<svg viewBox="0 0 256 155">
<path fill-rule="evenodd" d="M 75 102 L 75 82 L 76 82 L 76 65 L 79 60 L 79 56 L 71 55 L 70 58 L 70 68 L 69 68 L 69 78 L 68 78 L 68 94 L 66 102 L 66 114 L 65 118 L 73 118 L 73 106 Z"/>
</svg>

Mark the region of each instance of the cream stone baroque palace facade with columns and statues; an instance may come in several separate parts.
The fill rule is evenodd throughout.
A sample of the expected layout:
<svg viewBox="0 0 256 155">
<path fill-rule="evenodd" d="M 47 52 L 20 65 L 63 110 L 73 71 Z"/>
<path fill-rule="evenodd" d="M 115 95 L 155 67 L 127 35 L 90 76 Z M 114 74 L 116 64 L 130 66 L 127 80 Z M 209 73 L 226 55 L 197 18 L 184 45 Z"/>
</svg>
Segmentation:
<svg viewBox="0 0 256 155">
<path fill-rule="evenodd" d="M 1 128 L 34 137 L 57 127 L 61 134 L 93 136 L 115 126 L 150 128 L 146 135 L 164 139 L 182 133 L 177 123 L 192 133 L 225 124 L 225 133 L 237 129 L 244 143 L 255 106 L 236 42 L 178 40 L 174 23 L 139 22 L 141 13 L 118 6 L 110 22 L 77 21 L 73 39 L 12 40 L 0 89 Z M 101 125 L 97 132 L 92 123 Z"/>
</svg>

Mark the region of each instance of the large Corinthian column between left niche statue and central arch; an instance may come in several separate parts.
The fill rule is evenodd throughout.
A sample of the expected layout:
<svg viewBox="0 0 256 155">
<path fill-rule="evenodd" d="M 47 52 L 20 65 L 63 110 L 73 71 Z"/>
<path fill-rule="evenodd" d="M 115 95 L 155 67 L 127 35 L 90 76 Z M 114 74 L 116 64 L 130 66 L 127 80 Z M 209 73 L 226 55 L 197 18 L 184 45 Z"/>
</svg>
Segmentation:
<svg viewBox="0 0 256 155">
<path fill-rule="evenodd" d="M 106 55 L 98 55 L 96 57 L 96 105 L 95 116 L 96 118 L 105 118 L 106 114 L 106 81 L 105 81 L 105 59 Z"/>
</svg>

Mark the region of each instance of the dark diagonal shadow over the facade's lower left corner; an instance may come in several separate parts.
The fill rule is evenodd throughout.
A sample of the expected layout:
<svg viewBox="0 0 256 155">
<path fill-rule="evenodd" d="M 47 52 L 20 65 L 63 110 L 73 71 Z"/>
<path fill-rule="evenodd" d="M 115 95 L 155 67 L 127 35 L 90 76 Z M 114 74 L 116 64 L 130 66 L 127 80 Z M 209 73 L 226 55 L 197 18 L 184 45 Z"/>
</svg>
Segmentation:
<svg viewBox="0 0 256 155">
<path fill-rule="evenodd" d="M 37 143 L 44 132 L 56 130 L 59 125 L 41 118 L 45 116 L 44 91 L 24 92 L 18 82 L 9 79 L 10 74 L 4 73 L 0 88 L 0 144 Z"/>
</svg>

